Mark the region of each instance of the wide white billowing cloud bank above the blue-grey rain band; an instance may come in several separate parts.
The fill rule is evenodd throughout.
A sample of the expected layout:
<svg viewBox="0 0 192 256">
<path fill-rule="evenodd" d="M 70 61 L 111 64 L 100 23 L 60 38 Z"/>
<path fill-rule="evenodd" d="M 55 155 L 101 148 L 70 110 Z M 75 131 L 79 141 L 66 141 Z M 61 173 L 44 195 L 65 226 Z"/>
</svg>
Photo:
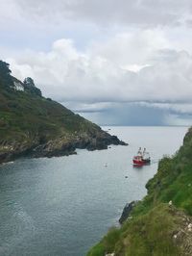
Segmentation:
<svg viewBox="0 0 192 256">
<path fill-rule="evenodd" d="M 32 76 L 46 95 L 60 102 L 191 102 L 191 55 L 158 49 L 158 40 L 151 41 L 145 33 L 136 33 L 135 38 L 117 36 L 97 50 L 90 45 L 85 52 L 62 38 L 49 52 L 26 51 L 7 61 L 15 76 Z M 145 47 L 132 47 L 132 40 Z M 128 70 L 134 61 L 144 67 Z"/>
</svg>

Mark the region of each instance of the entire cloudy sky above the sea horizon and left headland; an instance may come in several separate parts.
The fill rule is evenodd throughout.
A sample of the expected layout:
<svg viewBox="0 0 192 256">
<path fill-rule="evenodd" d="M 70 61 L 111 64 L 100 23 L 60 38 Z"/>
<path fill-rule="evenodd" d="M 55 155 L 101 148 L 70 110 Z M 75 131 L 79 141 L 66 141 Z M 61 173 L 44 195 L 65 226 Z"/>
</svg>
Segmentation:
<svg viewBox="0 0 192 256">
<path fill-rule="evenodd" d="M 0 59 L 100 125 L 191 125 L 191 0 L 0 0 Z"/>
</svg>

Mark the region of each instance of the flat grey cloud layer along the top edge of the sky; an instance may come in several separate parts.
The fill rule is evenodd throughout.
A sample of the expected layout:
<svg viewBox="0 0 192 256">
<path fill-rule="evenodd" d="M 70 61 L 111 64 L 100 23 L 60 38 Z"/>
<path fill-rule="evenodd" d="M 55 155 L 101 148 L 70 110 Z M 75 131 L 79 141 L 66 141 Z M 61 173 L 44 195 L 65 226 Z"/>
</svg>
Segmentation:
<svg viewBox="0 0 192 256">
<path fill-rule="evenodd" d="M 27 16 L 142 26 L 190 25 L 190 0 L 12 0 Z"/>
</svg>

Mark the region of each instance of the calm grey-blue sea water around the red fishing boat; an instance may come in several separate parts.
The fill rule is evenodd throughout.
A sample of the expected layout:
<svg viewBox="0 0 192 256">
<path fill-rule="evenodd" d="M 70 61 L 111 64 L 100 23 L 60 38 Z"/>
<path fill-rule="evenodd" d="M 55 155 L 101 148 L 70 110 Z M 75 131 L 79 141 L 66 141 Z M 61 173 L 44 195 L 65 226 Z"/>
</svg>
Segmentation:
<svg viewBox="0 0 192 256">
<path fill-rule="evenodd" d="M 108 128 L 130 145 L 0 166 L 0 255 L 84 256 L 118 223 L 124 205 L 146 194 L 157 160 L 175 153 L 187 131 Z M 151 166 L 132 167 L 139 146 L 151 152 Z"/>
</svg>

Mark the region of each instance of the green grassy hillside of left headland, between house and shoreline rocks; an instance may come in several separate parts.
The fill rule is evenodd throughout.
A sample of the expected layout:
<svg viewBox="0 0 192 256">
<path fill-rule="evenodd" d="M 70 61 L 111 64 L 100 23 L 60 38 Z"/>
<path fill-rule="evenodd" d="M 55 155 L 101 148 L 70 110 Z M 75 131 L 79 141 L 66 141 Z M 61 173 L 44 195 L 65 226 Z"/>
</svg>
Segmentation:
<svg viewBox="0 0 192 256">
<path fill-rule="evenodd" d="M 23 91 L 0 87 L 0 141 L 39 141 L 100 132 L 99 126 L 59 103 Z"/>
</svg>

